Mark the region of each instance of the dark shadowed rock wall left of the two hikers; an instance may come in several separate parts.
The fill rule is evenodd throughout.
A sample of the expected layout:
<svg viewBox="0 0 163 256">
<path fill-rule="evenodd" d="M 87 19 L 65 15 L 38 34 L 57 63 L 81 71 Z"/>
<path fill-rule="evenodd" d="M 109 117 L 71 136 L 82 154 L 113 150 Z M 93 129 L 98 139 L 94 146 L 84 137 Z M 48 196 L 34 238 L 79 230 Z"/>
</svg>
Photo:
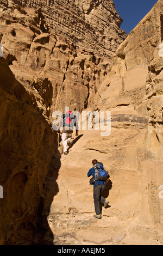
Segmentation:
<svg viewBox="0 0 163 256">
<path fill-rule="evenodd" d="M 0 66 L 1 244 L 37 244 L 43 221 L 41 194 L 57 155 L 56 133 L 3 57 Z"/>
</svg>

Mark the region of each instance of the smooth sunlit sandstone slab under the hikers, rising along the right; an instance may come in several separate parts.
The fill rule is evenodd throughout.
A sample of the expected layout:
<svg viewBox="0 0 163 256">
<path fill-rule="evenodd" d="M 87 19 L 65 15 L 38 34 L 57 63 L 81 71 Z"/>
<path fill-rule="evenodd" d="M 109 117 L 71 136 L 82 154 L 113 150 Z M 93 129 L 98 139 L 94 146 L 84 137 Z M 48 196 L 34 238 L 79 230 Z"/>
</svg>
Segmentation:
<svg viewBox="0 0 163 256">
<path fill-rule="evenodd" d="M 61 157 L 48 217 L 59 245 L 162 245 L 162 11 L 158 1 L 118 47 L 94 97 L 92 111 L 111 111 L 110 136 L 82 131 Z M 92 159 L 110 173 L 102 220 L 92 218 Z"/>
</svg>

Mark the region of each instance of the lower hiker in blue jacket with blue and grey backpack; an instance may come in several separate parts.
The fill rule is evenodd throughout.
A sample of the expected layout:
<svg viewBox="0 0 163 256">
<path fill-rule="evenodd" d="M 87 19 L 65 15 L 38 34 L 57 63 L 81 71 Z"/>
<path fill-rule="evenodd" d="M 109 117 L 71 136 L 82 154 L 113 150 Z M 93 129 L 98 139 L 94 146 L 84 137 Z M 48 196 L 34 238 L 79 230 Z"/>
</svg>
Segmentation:
<svg viewBox="0 0 163 256">
<path fill-rule="evenodd" d="M 95 218 L 101 218 L 101 209 L 100 202 L 103 204 L 104 208 L 106 208 L 109 204 L 103 196 L 101 196 L 102 191 L 104 191 L 106 186 L 106 180 L 110 178 L 110 175 L 103 167 L 103 163 L 98 162 L 96 159 L 92 160 L 93 167 L 87 173 L 87 176 L 93 176 L 91 180 L 91 184 L 93 185 L 93 199 L 95 205 L 96 215 L 93 215 Z"/>
</svg>

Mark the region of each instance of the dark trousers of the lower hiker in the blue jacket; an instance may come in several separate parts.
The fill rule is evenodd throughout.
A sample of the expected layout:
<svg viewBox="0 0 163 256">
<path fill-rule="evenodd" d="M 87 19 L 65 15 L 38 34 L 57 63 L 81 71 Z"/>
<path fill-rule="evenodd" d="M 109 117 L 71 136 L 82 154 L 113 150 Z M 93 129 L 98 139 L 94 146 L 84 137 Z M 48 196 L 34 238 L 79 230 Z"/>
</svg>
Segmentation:
<svg viewBox="0 0 163 256">
<path fill-rule="evenodd" d="M 102 191 L 105 189 L 105 185 L 96 185 L 93 187 L 93 199 L 95 204 L 96 215 L 101 214 L 100 202 L 105 203 L 105 198 L 101 196 Z"/>
</svg>

